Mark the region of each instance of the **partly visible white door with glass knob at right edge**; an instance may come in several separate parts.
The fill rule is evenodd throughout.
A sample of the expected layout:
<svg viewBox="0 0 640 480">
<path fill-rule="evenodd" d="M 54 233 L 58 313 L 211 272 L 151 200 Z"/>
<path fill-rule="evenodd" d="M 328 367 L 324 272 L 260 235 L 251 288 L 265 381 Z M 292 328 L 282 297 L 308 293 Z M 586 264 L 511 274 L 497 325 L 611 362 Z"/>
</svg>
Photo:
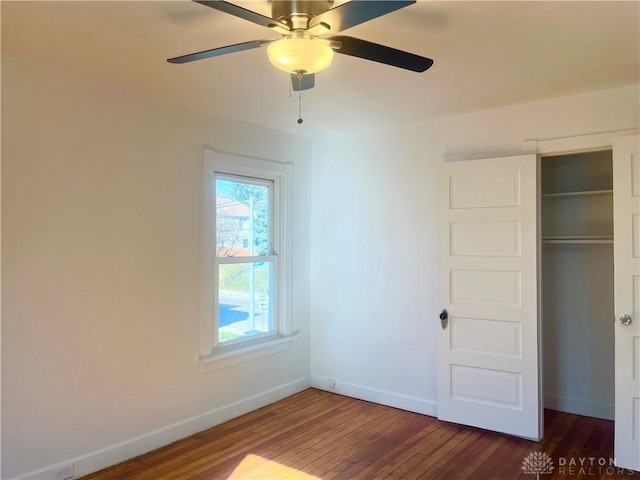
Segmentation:
<svg viewBox="0 0 640 480">
<path fill-rule="evenodd" d="M 640 137 L 613 140 L 615 448 L 640 470 Z"/>
</svg>

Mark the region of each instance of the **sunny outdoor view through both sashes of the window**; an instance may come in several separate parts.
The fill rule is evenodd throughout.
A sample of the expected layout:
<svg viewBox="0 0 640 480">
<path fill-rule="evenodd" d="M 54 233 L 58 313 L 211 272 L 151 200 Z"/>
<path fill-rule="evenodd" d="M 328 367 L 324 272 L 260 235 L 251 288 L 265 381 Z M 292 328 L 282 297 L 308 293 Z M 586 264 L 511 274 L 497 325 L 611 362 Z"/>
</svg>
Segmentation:
<svg viewBox="0 0 640 480">
<path fill-rule="evenodd" d="M 216 174 L 218 343 L 274 327 L 273 182 Z"/>
</svg>

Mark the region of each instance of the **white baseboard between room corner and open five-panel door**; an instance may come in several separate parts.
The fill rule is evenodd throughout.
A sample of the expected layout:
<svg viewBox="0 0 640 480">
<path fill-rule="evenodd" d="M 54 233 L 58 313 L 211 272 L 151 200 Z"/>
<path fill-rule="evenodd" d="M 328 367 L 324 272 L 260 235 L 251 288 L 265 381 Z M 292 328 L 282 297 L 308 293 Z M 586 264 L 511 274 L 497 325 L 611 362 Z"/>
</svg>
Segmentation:
<svg viewBox="0 0 640 480">
<path fill-rule="evenodd" d="M 338 393 L 347 397 L 379 403 L 389 407 L 400 408 L 409 412 L 421 413 L 431 417 L 438 416 L 438 404 L 422 398 L 402 395 L 377 388 L 365 387 L 354 383 L 335 379 L 335 388 L 329 387 L 329 378 L 318 375 L 311 376 L 311 386 L 327 392 Z"/>
</svg>

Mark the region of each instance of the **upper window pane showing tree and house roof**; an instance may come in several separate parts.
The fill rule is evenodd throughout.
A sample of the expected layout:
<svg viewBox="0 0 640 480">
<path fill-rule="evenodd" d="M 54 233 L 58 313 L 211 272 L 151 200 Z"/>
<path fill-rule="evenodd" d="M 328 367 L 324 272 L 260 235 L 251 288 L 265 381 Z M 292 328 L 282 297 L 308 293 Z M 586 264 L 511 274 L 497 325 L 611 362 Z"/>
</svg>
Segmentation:
<svg viewBox="0 0 640 480">
<path fill-rule="evenodd" d="M 216 255 L 269 255 L 271 188 L 268 184 L 216 179 Z"/>
</svg>

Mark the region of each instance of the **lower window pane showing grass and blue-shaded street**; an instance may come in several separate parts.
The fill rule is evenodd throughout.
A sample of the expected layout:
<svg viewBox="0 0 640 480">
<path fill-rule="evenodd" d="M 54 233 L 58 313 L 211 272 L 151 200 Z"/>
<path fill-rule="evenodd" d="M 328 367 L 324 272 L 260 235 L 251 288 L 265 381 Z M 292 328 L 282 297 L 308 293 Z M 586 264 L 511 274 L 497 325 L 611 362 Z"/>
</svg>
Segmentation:
<svg viewBox="0 0 640 480">
<path fill-rule="evenodd" d="M 271 262 L 219 265 L 218 342 L 272 332 Z"/>
</svg>

